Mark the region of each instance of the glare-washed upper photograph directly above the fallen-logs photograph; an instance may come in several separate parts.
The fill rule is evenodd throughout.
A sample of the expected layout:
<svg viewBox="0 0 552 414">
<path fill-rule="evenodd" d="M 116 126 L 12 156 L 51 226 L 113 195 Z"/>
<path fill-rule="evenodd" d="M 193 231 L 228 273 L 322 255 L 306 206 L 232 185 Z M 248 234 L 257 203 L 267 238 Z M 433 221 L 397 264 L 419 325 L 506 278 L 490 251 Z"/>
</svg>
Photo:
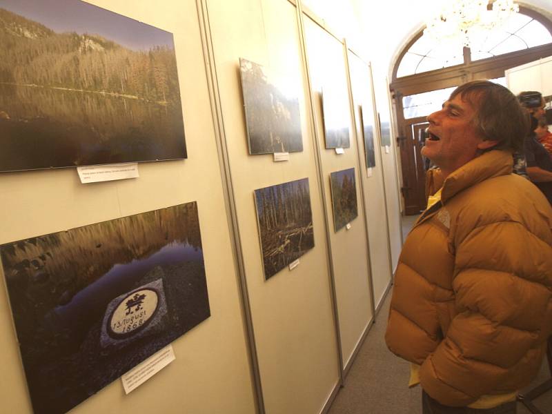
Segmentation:
<svg viewBox="0 0 552 414">
<path fill-rule="evenodd" d="M 249 153 L 303 150 L 297 90 L 284 88 L 263 66 L 239 59 Z"/>
</svg>

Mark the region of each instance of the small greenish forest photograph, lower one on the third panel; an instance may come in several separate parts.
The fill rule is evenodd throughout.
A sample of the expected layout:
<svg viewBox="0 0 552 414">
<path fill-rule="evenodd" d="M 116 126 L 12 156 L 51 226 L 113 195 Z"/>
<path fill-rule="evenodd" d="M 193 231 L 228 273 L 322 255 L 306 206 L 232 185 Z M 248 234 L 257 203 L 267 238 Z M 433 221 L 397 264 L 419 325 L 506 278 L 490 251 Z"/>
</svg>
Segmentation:
<svg viewBox="0 0 552 414">
<path fill-rule="evenodd" d="M 350 223 L 358 215 L 355 168 L 330 174 L 333 226 L 335 231 Z"/>
</svg>

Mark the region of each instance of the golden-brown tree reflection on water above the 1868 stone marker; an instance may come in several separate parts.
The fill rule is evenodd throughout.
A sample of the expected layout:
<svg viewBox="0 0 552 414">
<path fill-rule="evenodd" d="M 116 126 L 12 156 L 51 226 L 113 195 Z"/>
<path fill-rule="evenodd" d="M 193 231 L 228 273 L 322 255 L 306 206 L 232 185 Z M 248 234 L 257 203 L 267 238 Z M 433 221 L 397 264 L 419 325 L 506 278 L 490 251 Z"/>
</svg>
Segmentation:
<svg viewBox="0 0 552 414">
<path fill-rule="evenodd" d="M 107 275 L 131 270 L 146 273 L 141 266 L 151 263 L 148 260 L 156 262 L 155 266 L 173 264 L 174 255 L 168 253 L 175 252 L 175 248 L 170 246 L 185 246 L 179 251 L 179 262 L 195 261 L 203 266 L 197 203 L 1 246 L 21 346 L 34 347 L 39 335 L 37 324 L 45 315 L 52 315 L 57 306 L 74 302 L 79 293 Z M 113 288 L 107 302 L 121 294 L 117 284 Z M 103 293 L 109 296 L 107 290 Z"/>
</svg>

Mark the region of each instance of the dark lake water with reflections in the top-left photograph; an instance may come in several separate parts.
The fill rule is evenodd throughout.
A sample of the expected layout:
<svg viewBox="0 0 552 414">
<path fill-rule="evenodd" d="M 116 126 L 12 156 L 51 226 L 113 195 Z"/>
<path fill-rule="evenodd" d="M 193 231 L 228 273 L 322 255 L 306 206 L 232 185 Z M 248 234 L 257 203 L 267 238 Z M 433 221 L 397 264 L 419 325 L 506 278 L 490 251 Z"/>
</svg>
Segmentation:
<svg viewBox="0 0 552 414">
<path fill-rule="evenodd" d="M 179 101 L 0 84 L 0 172 L 186 157 Z"/>
</svg>

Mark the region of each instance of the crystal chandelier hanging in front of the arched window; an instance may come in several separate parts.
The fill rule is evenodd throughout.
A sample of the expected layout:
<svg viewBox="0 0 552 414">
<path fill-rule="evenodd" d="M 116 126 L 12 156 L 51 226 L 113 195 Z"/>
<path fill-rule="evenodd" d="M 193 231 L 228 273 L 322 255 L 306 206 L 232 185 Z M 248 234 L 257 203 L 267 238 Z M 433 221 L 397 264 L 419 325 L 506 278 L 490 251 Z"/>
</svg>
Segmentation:
<svg viewBox="0 0 552 414">
<path fill-rule="evenodd" d="M 426 22 L 424 34 L 440 46 L 473 48 L 519 10 L 513 0 L 444 0 L 440 14 Z"/>
</svg>

